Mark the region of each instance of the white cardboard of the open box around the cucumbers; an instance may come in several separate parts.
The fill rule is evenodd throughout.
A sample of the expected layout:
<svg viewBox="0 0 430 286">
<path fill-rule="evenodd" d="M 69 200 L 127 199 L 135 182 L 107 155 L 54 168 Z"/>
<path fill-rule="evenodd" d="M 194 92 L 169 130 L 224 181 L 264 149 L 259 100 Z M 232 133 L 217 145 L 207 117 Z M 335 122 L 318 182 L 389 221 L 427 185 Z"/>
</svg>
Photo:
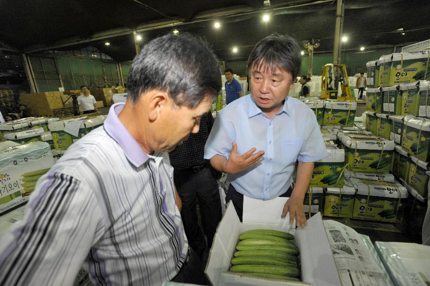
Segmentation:
<svg viewBox="0 0 430 286">
<path fill-rule="evenodd" d="M 304 229 L 295 229 L 290 226 L 288 215 L 283 219 L 280 218 L 286 200 L 288 198 L 262 201 L 244 196 L 242 223 L 237 217 L 233 204 L 231 202 L 228 204 L 215 234 L 205 269 L 205 273 L 212 285 L 341 285 L 321 214 L 317 213 L 308 219 L 308 225 Z M 246 274 L 228 272 L 239 235 L 250 229 L 274 229 L 290 233 L 295 232 L 295 244 L 300 250 L 303 282 L 257 278 Z"/>
</svg>

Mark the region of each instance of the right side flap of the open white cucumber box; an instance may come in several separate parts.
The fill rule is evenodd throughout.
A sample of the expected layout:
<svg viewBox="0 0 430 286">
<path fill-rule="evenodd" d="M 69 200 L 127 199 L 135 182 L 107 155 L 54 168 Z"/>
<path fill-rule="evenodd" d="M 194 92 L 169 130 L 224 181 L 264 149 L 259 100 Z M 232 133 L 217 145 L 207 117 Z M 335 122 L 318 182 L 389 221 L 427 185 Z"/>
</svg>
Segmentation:
<svg viewBox="0 0 430 286">
<path fill-rule="evenodd" d="M 300 250 L 302 280 L 312 285 L 341 285 L 335 259 L 331 253 L 321 213 L 308 219 L 305 228 L 297 228 L 296 244 Z M 312 257 L 312 258 L 311 258 Z"/>
</svg>

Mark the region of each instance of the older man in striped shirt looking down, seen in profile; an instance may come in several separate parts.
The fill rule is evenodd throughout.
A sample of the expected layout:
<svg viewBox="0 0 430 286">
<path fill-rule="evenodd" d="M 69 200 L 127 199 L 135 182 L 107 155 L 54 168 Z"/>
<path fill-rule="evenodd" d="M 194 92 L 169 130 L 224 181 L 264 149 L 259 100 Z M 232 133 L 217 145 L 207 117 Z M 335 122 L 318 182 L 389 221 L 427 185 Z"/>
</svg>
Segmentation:
<svg viewBox="0 0 430 286">
<path fill-rule="evenodd" d="M 37 182 L 0 245 L 0 285 L 161 285 L 183 275 L 188 244 L 166 152 L 197 133 L 221 87 L 218 61 L 190 36 L 135 57 L 128 101 Z M 179 279 L 180 280 L 180 279 Z"/>
</svg>

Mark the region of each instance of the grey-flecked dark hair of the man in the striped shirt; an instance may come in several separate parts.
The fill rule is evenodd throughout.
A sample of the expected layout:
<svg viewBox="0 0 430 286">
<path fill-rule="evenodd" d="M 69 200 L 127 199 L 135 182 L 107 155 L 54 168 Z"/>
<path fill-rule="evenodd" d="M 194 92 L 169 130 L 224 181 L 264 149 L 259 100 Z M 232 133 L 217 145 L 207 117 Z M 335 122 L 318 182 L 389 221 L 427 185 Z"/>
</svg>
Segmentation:
<svg viewBox="0 0 430 286">
<path fill-rule="evenodd" d="M 150 41 L 133 59 L 127 89 L 134 103 L 141 93 L 160 89 L 176 105 L 195 108 L 221 90 L 219 62 L 202 40 L 168 34 Z"/>
</svg>

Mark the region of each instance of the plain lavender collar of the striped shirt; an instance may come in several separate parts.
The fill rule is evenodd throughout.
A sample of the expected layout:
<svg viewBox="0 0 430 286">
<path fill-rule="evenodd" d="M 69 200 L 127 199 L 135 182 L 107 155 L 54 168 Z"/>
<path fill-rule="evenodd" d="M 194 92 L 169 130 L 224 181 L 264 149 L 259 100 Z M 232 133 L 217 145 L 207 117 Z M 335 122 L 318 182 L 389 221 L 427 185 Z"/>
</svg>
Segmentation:
<svg viewBox="0 0 430 286">
<path fill-rule="evenodd" d="M 124 150 L 128 161 L 139 167 L 144 164 L 150 157 L 142 150 L 137 141 L 127 131 L 122 122 L 118 119 L 118 114 L 124 108 L 125 103 L 116 103 L 109 109 L 108 118 L 104 123 L 106 132 L 111 136 Z"/>
</svg>

